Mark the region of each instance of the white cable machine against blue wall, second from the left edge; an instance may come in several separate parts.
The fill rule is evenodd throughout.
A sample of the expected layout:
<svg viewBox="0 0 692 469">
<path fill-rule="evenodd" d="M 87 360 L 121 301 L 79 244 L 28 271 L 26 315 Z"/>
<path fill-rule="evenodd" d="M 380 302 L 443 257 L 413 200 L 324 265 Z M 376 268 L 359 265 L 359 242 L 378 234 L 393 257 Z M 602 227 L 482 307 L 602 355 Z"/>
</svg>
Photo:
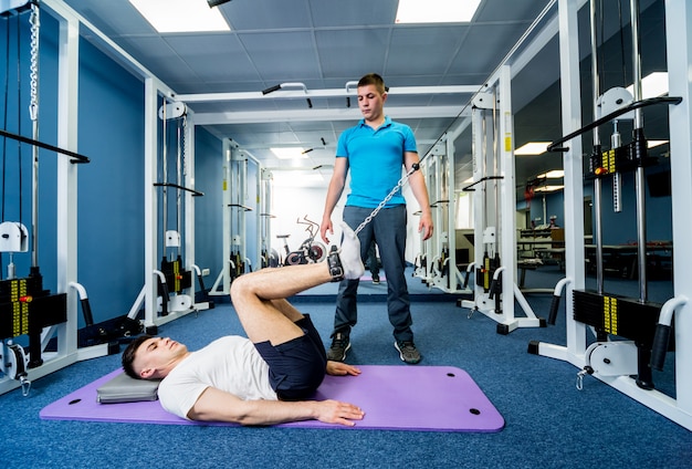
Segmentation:
<svg viewBox="0 0 692 469">
<path fill-rule="evenodd" d="M 127 317 L 136 320 L 144 305 L 144 327 L 147 333 L 155 334 L 159 325 L 195 311 L 211 309 L 213 302 L 209 300 L 202 272 L 193 260 L 193 198 L 203 196 L 192 187 L 195 156 L 190 143 L 195 142 L 195 126 L 190 125 L 191 116 L 184 103 L 168 101 L 171 93 L 161 93 L 162 104 L 158 106 L 159 90 L 153 79 L 147 79 L 145 88 L 147 93 L 145 217 L 148 221 L 145 236 L 145 272 L 151 274 L 147 273 L 145 285 Z M 149 129 L 148 125 L 153 127 Z M 170 149 L 171 147 L 175 152 Z M 175 170 L 169 169 L 171 159 L 175 163 Z M 175 223 L 170 222 L 171 218 Z M 154 268 L 157 258 L 160 259 L 159 269 Z M 199 285 L 197 292 L 193 274 Z"/>
</svg>

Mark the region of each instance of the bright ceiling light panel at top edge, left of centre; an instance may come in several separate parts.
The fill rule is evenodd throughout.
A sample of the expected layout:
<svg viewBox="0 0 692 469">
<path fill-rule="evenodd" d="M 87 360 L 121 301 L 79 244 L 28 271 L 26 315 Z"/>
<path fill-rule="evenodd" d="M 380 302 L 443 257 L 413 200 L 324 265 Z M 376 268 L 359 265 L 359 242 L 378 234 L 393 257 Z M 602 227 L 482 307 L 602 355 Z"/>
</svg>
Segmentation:
<svg viewBox="0 0 692 469">
<path fill-rule="evenodd" d="M 160 33 L 230 31 L 218 8 L 206 0 L 129 0 Z"/>
</svg>

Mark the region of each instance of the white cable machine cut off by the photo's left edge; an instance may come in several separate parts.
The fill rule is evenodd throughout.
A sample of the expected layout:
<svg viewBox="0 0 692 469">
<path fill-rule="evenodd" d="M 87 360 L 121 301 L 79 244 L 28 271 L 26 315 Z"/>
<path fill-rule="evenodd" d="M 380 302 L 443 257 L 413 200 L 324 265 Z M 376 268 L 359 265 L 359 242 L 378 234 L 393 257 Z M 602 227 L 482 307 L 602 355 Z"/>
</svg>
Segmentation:
<svg viewBox="0 0 692 469">
<path fill-rule="evenodd" d="M 0 393 L 18 387 L 28 395 L 33 379 L 45 376 L 77 361 L 117 353 L 117 343 L 99 344 L 91 347 L 77 348 L 77 305 L 78 295 L 86 325 L 93 324 L 92 312 L 84 286 L 76 282 L 76 196 L 71 188 L 76 185 L 76 168 L 80 163 L 88 163 L 88 158 L 75 152 L 45 144 L 39 139 L 39 46 L 40 46 L 40 8 L 38 1 L 4 2 L 1 15 L 7 20 L 7 77 L 4 87 L 4 115 L 2 138 L 2 220 L 0 222 L 0 253 L 4 267 L 4 254 L 9 257 L 7 277 L 0 280 Z M 24 117 L 21 111 L 21 74 L 18 73 L 18 133 L 7 131 L 8 127 L 8 88 L 10 70 L 10 23 L 17 20 L 17 63 L 18 72 L 20 60 L 20 30 L 21 21 L 29 17 L 31 31 L 31 63 L 30 63 L 30 105 L 32 136 L 25 137 L 21 131 Z M 76 146 L 76 132 L 67 122 L 76 121 L 76 67 L 70 66 L 76 54 L 77 42 L 74 24 L 61 23 L 60 44 L 64 46 L 64 54 L 59 61 L 59 100 L 57 134 L 59 144 L 66 147 Z M 19 221 L 9 221 L 10 207 L 8 204 L 8 173 L 12 164 L 8 156 L 9 140 L 17 142 L 17 184 L 19 188 Z M 31 148 L 31 225 L 30 229 L 23 222 L 23 149 Z M 43 274 L 39 265 L 39 163 L 40 149 L 55 153 L 57 159 L 57 292 L 52 293 L 44 288 Z M 7 211 L 6 211 L 7 209 Z M 7 218 L 6 218 L 7 216 Z M 17 277 L 14 254 L 31 252 L 29 274 Z"/>
</svg>

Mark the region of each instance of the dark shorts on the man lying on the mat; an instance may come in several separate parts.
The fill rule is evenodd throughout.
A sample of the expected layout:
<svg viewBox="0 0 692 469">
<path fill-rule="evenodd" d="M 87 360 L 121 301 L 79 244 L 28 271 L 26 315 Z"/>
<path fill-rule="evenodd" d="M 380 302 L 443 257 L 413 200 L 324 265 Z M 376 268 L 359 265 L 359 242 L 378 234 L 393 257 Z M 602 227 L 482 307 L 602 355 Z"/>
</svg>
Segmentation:
<svg viewBox="0 0 692 469">
<path fill-rule="evenodd" d="M 269 341 L 254 346 L 269 365 L 269 381 L 279 399 L 305 399 L 322 384 L 327 363 L 307 334 L 276 346 Z"/>
</svg>

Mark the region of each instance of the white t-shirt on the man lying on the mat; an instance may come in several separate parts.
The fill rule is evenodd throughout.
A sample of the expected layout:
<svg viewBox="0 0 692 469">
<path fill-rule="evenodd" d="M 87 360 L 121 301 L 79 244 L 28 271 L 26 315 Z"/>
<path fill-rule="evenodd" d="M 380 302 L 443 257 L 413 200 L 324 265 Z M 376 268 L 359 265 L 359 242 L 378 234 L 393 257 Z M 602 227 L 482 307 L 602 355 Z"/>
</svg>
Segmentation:
<svg viewBox="0 0 692 469">
<path fill-rule="evenodd" d="M 188 413 L 209 386 L 244 400 L 277 399 L 269 384 L 269 365 L 252 342 L 237 335 L 192 352 L 161 381 L 158 398 L 164 409 L 188 419 Z"/>
</svg>

